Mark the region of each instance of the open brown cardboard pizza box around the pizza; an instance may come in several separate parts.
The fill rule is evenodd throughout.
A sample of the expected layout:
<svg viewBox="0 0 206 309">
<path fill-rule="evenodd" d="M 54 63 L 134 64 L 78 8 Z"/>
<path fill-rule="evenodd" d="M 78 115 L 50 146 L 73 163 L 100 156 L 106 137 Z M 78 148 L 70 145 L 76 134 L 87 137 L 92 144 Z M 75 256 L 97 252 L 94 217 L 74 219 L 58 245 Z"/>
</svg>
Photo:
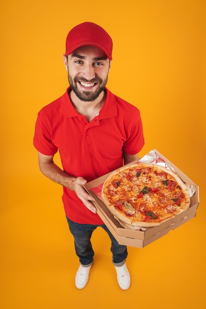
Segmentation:
<svg viewBox="0 0 206 309">
<path fill-rule="evenodd" d="M 151 242 L 159 239 L 160 237 L 166 235 L 169 231 L 178 228 L 180 225 L 194 218 L 199 205 L 199 187 L 190 180 L 184 173 L 182 173 L 172 162 L 170 162 L 165 156 L 160 154 L 157 150 L 154 150 L 161 159 L 163 159 L 173 170 L 179 175 L 183 182 L 192 185 L 195 188 L 195 193 L 191 196 L 191 203 L 188 210 L 181 212 L 174 218 L 171 218 L 158 227 L 147 228 L 145 231 L 131 230 L 130 228 L 123 227 L 119 221 L 117 221 L 110 211 L 103 204 L 103 201 L 92 191 L 92 188 L 101 186 L 106 178 L 112 173 L 108 173 L 102 177 L 99 177 L 89 183 L 87 183 L 84 188 L 85 190 L 94 197 L 93 202 L 97 208 L 97 213 L 103 220 L 106 227 L 113 234 L 119 244 L 127 245 L 131 247 L 143 248 Z M 134 164 L 137 162 L 132 162 Z"/>
</svg>

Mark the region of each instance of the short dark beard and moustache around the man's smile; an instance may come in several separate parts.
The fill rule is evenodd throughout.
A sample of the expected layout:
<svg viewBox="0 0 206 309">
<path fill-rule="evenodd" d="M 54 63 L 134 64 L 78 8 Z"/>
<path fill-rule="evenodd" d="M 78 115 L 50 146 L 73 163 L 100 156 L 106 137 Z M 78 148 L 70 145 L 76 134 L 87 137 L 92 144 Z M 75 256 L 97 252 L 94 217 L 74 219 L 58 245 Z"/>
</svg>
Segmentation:
<svg viewBox="0 0 206 309">
<path fill-rule="evenodd" d="M 87 80 L 86 78 L 83 78 L 83 77 L 72 78 L 69 75 L 69 70 L 68 70 L 68 80 L 69 80 L 71 90 L 73 90 L 73 92 L 75 93 L 77 98 L 79 98 L 81 101 L 84 101 L 84 102 L 95 101 L 99 97 L 100 93 L 104 90 L 106 83 L 107 83 L 107 77 L 104 80 L 100 77 L 95 77 L 95 78 L 92 78 L 91 80 Z M 77 87 L 78 80 L 80 80 L 82 82 L 88 82 L 88 83 L 92 83 L 92 82 L 97 83 L 98 82 L 99 87 L 95 90 L 95 92 L 93 92 L 93 91 L 80 91 Z"/>
</svg>

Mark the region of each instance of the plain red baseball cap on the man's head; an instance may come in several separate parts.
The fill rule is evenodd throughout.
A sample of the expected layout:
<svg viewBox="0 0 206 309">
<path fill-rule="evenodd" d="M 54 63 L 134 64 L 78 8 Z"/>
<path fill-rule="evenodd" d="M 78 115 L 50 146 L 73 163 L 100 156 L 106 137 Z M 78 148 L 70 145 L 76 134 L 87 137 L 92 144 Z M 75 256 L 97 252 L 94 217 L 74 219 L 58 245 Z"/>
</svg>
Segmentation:
<svg viewBox="0 0 206 309">
<path fill-rule="evenodd" d="M 85 45 L 102 49 L 109 61 L 112 59 L 112 39 L 102 27 L 85 22 L 71 29 L 66 40 L 66 55 Z"/>
</svg>

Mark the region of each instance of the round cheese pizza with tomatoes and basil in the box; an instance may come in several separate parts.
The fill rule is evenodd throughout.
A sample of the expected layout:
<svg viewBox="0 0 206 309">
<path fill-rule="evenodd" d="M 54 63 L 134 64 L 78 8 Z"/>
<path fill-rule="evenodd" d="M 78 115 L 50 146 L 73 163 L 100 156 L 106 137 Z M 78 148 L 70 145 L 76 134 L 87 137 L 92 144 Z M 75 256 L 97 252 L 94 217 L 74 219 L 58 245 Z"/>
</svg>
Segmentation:
<svg viewBox="0 0 206 309">
<path fill-rule="evenodd" d="M 159 226 L 190 206 L 188 189 L 178 175 L 149 163 L 112 172 L 103 184 L 102 200 L 117 219 L 134 227 Z"/>
</svg>

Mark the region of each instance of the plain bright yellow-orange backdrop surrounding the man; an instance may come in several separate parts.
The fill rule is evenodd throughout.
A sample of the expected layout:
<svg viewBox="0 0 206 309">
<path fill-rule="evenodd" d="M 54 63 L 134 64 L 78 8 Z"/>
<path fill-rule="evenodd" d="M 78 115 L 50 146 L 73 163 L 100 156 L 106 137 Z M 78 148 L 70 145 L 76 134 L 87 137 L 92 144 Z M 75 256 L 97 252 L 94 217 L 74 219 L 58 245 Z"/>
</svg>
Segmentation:
<svg viewBox="0 0 206 309">
<path fill-rule="evenodd" d="M 206 1 L 1 1 L 0 308 L 206 308 Z M 129 247 L 132 285 L 122 291 L 110 241 L 93 235 L 86 288 L 62 188 L 38 170 L 34 124 L 68 86 L 65 39 L 76 24 L 103 26 L 114 43 L 108 88 L 136 105 L 140 155 L 156 148 L 200 186 L 197 216 L 143 249 Z M 59 160 L 59 159 L 58 159 Z"/>
</svg>

